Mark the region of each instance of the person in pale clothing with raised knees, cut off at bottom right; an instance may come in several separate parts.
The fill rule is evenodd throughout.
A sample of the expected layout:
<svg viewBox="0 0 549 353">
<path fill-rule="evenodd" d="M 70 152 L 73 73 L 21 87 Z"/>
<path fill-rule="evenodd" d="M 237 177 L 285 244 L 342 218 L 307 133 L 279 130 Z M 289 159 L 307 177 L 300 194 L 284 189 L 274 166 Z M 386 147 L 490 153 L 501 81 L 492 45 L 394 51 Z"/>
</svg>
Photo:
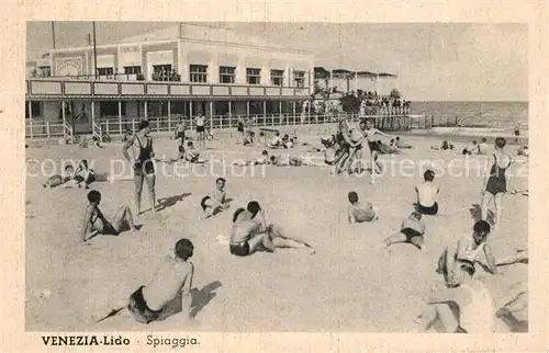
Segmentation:
<svg viewBox="0 0 549 353">
<path fill-rule="evenodd" d="M 447 333 L 494 332 L 495 308 L 484 284 L 474 276 L 474 265 L 458 260 L 448 287 L 432 293 L 421 315 L 419 329 L 428 330 L 439 320 Z"/>
</svg>

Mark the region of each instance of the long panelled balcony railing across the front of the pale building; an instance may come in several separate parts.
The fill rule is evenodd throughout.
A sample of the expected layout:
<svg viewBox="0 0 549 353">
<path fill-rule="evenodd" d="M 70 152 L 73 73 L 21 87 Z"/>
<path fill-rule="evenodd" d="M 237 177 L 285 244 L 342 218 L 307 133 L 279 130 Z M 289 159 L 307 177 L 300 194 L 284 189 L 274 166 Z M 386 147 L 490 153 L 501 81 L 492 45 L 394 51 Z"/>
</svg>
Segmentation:
<svg viewBox="0 0 549 353">
<path fill-rule="evenodd" d="M 309 88 L 258 84 L 126 81 L 112 79 L 29 78 L 26 100 L 299 100 Z"/>
</svg>

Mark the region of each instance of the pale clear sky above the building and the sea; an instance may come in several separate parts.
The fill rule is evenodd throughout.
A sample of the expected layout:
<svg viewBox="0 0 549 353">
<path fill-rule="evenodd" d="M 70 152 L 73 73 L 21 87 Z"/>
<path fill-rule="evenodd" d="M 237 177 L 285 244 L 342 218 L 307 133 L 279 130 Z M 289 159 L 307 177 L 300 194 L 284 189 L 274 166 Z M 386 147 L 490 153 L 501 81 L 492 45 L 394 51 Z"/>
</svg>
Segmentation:
<svg viewBox="0 0 549 353">
<path fill-rule="evenodd" d="M 98 44 L 176 24 L 97 22 Z M 397 75 L 396 87 L 412 101 L 527 101 L 526 24 L 464 23 L 209 23 L 261 37 L 276 45 L 311 50 L 315 66 Z M 82 46 L 91 22 L 56 22 L 56 47 Z M 51 22 L 29 22 L 26 57 L 52 48 Z M 336 82 L 346 89 L 345 82 Z M 358 88 L 373 89 L 369 80 Z M 351 90 L 354 83 L 350 83 Z"/>
</svg>

